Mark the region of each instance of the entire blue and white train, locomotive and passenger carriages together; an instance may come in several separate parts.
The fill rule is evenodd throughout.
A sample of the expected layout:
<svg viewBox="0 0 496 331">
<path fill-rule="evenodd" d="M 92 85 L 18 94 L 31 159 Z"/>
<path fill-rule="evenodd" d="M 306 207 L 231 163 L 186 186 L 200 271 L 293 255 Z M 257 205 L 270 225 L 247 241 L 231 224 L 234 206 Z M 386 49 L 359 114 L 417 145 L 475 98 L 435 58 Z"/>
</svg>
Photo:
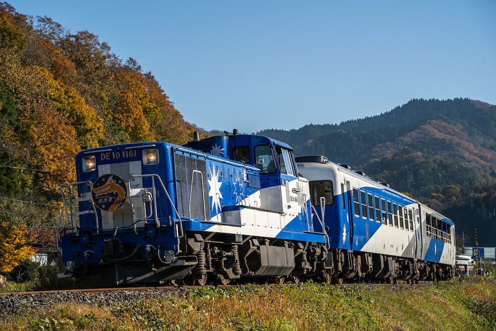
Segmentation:
<svg viewBox="0 0 496 331">
<path fill-rule="evenodd" d="M 237 130 L 75 157 L 57 247 L 77 286 L 446 280 L 455 228 L 323 156 Z"/>
</svg>

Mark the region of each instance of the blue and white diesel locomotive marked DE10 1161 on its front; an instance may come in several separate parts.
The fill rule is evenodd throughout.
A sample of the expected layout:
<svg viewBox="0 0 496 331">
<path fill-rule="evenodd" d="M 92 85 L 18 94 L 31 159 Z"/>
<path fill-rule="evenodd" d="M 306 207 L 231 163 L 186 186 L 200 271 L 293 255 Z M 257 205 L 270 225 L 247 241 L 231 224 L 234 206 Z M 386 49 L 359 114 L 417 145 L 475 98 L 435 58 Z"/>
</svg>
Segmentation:
<svg viewBox="0 0 496 331">
<path fill-rule="evenodd" d="M 328 238 L 292 148 L 236 133 L 78 153 L 77 182 L 62 185 L 60 276 L 104 286 L 320 275 Z"/>
</svg>

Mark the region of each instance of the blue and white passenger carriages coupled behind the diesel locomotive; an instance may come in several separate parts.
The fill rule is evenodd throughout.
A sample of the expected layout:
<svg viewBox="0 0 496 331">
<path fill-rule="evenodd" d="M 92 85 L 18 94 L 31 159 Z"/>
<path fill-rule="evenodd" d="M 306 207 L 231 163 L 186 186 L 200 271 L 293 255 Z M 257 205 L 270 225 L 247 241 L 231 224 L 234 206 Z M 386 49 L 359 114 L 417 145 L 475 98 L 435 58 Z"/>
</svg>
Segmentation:
<svg viewBox="0 0 496 331">
<path fill-rule="evenodd" d="M 329 237 L 328 281 L 438 281 L 453 276 L 451 220 L 347 165 L 323 156 L 296 160 L 299 174 L 310 181 L 315 231 Z"/>
</svg>

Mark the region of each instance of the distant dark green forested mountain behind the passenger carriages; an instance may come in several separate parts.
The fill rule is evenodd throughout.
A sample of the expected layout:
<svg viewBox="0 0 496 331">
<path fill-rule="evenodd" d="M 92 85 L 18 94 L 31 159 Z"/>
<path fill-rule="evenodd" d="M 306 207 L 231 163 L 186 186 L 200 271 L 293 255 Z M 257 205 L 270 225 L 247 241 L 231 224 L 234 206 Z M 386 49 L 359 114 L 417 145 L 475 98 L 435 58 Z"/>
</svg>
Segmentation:
<svg viewBox="0 0 496 331">
<path fill-rule="evenodd" d="M 496 106 L 469 99 L 411 100 L 339 125 L 259 132 L 290 141 L 295 155 L 321 154 L 417 197 L 457 220 L 458 230 L 496 229 Z M 458 194 L 443 198 L 447 188 Z M 477 192 L 477 193 L 476 193 Z M 491 213 L 490 213 L 491 211 Z M 463 219 L 462 219 L 463 218 Z M 491 226 L 490 226 L 491 225 Z M 494 245 L 489 232 L 479 244 Z"/>
</svg>

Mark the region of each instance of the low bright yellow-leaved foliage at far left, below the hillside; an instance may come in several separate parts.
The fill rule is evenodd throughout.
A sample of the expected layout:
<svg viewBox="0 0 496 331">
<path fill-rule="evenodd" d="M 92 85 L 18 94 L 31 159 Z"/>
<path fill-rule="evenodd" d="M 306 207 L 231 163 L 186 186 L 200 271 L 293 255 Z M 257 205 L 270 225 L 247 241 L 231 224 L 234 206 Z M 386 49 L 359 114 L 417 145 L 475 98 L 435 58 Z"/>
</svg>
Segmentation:
<svg viewBox="0 0 496 331">
<path fill-rule="evenodd" d="M 22 261 L 34 255 L 27 246 L 26 226 L 16 227 L 9 222 L 0 222 L 0 272 L 9 272 Z"/>
</svg>

